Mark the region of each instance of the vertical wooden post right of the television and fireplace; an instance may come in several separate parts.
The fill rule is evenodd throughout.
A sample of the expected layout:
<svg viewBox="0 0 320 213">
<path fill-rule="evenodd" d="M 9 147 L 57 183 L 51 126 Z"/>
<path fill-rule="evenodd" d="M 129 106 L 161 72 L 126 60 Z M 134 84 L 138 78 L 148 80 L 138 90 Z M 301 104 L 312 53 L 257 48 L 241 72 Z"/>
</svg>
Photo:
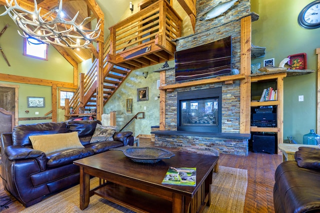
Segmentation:
<svg viewBox="0 0 320 213">
<path fill-rule="evenodd" d="M 241 19 L 240 33 L 240 74 L 245 79 L 240 80 L 240 133 L 250 133 L 250 101 L 251 101 L 251 16 Z"/>
</svg>

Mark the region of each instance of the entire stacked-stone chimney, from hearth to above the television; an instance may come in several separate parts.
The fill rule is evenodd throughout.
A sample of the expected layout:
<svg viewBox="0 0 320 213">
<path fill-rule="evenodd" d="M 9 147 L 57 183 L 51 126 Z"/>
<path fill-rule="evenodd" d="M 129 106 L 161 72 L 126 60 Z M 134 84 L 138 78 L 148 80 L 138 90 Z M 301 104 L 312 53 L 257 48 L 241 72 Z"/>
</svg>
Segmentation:
<svg viewBox="0 0 320 213">
<path fill-rule="evenodd" d="M 212 7 L 213 1 L 197 0 L 197 14 Z M 191 48 L 201 44 L 218 40 L 226 36 L 232 37 L 232 69 L 240 70 L 240 31 L 241 18 L 250 15 L 249 0 L 237 1 L 228 15 L 220 16 L 208 21 L 198 21 L 195 33 L 175 40 L 176 51 Z M 176 84 L 174 81 L 174 67 L 165 70 L 165 85 Z M 177 93 L 207 88 L 222 88 L 222 118 L 221 133 L 177 131 Z M 244 155 L 248 154 L 248 139 L 250 134 L 240 134 L 240 81 L 232 83 L 217 82 L 197 86 L 181 87 L 165 90 L 165 129 L 153 131 L 155 146 L 184 147 L 201 146 L 213 147 L 220 153 Z"/>
</svg>

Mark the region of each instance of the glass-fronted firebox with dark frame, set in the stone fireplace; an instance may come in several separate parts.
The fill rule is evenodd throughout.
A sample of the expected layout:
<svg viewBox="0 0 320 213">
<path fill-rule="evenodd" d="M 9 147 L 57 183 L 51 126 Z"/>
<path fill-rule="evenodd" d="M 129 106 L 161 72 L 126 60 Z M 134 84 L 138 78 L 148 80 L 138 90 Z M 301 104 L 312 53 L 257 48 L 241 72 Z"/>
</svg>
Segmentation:
<svg viewBox="0 0 320 213">
<path fill-rule="evenodd" d="M 177 130 L 221 133 L 222 88 L 177 93 Z"/>
</svg>

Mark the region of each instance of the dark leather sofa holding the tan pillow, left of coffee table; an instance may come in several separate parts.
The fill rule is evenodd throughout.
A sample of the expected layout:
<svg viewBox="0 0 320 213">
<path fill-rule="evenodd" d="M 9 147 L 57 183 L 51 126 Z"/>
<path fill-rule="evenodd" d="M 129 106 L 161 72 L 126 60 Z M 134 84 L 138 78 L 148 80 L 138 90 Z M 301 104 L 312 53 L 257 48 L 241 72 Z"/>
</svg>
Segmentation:
<svg viewBox="0 0 320 213">
<path fill-rule="evenodd" d="M 40 202 L 44 196 L 79 183 L 79 168 L 73 161 L 111 148 L 133 145 L 132 132 L 115 132 L 113 141 L 91 143 L 100 121 L 66 121 L 19 125 L 12 133 L 1 134 L 2 183 L 24 207 Z M 29 136 L 78 132 L 84 148 L 45 154 L 32 149 Z M 76 137 L 76 136 L 75 136 Z"/>
</svg>

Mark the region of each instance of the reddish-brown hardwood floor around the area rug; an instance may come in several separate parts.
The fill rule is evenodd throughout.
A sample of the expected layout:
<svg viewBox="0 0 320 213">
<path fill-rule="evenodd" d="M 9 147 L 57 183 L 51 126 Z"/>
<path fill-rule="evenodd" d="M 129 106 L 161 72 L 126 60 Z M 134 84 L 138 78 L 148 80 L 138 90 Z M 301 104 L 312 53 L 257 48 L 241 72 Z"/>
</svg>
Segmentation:
<svg viewBox="0 0 320 213">
<path fill-rule="evenodd" d="M 153 146 L 150 139 L 140 138 L 140 146 Z M 248 156 L 220 154 L 219 165 L 248 171 L 248 185 L 245 195 L 244 213 L 273 213 L 273 184 L 276 167 L 282 162 L 280 155 L 251 153 Z M 1 169 L 0 169 L 1 172 Z M 5 200 L 7 199 L 7 200 Z M 1 212 L 18 213 L 25 208 L 3 190 L 0 181 Z M 11 202 L 2 207 L 7 202 Z M 45 212 L 45 210 L 43 210 Z"/>
</svg>

